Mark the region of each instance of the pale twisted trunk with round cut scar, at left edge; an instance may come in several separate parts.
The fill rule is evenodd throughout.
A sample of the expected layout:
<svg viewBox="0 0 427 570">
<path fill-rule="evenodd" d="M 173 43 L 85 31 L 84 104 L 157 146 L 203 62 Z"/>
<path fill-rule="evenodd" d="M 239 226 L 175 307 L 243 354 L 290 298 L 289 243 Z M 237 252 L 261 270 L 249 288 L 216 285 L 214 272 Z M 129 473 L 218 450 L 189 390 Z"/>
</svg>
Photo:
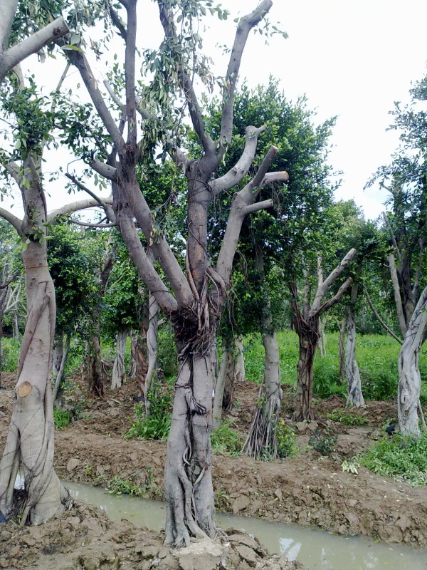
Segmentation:
<svg viewBox="0 0 427 570">
<path fill-rule="evenodd" d="M 46 242 L 23 252 L 28 317 L 19 356 L 16 400 L 0 462 L 0 510 L 10 516 L 18 471 L 25 480 L 21 524 L 40 524 L 64 509 L 66 492 L 53 470 L 51 366 L 56 304 Z"/>
</svg>

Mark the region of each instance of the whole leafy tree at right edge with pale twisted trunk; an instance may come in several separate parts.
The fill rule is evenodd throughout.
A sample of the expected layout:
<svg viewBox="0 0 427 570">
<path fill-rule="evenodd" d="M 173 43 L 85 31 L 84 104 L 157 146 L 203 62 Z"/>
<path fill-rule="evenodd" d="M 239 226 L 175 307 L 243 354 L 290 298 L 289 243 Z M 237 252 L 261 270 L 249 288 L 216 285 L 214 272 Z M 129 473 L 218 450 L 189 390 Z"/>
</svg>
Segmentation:
<svg viewBox="0 0 427 570">
<path fill-rule="evenodd" d="M 404 342 L 399 354 L 399 428 L 404 435 L 418 437 L 418 411 L 421 375 L 418 356 L 426 338 L 427 289 L 427 117 L 416 104 L 427 99 L 427 77 L 411 90 L 412 102 L 406 108 L 396 103 L 395 123 L 401 130 L 401 147 L 391 165 L 381 167 L 373 179 L 390 192 L 391 212 L 384 215 L 389 232 L 389 269 L 396 314 Z"/>
</svg>

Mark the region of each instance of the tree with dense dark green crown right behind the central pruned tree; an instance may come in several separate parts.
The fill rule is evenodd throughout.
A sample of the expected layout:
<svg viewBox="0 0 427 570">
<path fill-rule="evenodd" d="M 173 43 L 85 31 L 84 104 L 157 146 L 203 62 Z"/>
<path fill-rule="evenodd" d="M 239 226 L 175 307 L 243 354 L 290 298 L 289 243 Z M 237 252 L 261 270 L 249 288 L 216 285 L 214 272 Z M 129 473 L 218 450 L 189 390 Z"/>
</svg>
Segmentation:
<svg viewBox="0 0 427 570">
<path fill-rule="evenodd" d="M 221 113 L 218 104 L 211 105 L 209 123 L 218 132 Z M 275 457 L 276 427 L 280 409 L 280 367 L 275 331 L 287 294 L 283 288 L 284 276 L 297 276 L 296 259 L 300 249 L 310 249 L 310 229 L 323 223 L 325 209 L 330 205 L 332 185 L 330 167 L 327 165 L 327 144 L 334 125 L 334 119 L 318 126 L 313 124 L 314 113 L 307 108 L 305 97 L 295 103 L 285 98 L 278 81 L 270 78 L 267 86 L 250 90 L 243 86 L 236 94 L 235 127 L 233 141 L 228 151 L 223 170 L 231 168 L 238 158 L 239 141 L 244 125 L 255 120 L 266 125 L 263 138 L 258 144 L 255 164 L 260 162 L 269 144 L 278 145 L 275 164 L 280 170 L 287 170 L 290 180 L 286 188 L 280 188 L 273 195 L 273 206 L 266 212 L 258 212 L 246 219 L 239 244 L 239 274 L 245 274 L 253 281 L 256 292 L 251 293 L 245 309 L 248 291 L 238 288 L 241 309 L 236 314 L 237 328 L 243 318 L 243 327 L 261 331 L 265 348 L 265 374 L 263 395 L 254 413 L 253 425 L 245 449 L 251 455 Z M 242 182 L 243 184 L 244 182 Z M 267 197 L 261 190 L 260 199 Z M 221 244 L 230 198 L 222 195 L 215 204 L 218 223 L 214 226 L 211 241 Z M 223 217 L 221 217 L 223 212 Z M 258 268 L 258 269 L 255 269 Z M 281 286 L 281 287 L 280 287 Z M 256 300 L 255 300 L 256 299 Z M 256 306 L 254 306 L 256 305 Z M 236 304 L 235 304 L 236 306 Z M 251 325 L 249 325 L 251 323 Z M 256 324 L 255 324 L 256 323 Z"/>
</svg>

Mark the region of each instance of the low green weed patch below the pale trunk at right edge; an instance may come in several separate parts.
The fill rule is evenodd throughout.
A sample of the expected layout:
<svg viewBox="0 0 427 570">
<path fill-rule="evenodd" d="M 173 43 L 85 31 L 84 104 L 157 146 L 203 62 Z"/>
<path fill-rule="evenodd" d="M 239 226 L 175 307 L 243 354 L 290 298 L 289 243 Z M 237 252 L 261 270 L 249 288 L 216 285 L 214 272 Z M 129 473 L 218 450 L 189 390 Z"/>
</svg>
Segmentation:
<svg viewBox="0 0 427 570">
<path fill-rule="evenodd" d="M 369 447 L 359 462 L 376 475 L 393 477 L 418 487 L 427 484 L 427 431 L 418 439 L 396 434 Z"/>
</svg>

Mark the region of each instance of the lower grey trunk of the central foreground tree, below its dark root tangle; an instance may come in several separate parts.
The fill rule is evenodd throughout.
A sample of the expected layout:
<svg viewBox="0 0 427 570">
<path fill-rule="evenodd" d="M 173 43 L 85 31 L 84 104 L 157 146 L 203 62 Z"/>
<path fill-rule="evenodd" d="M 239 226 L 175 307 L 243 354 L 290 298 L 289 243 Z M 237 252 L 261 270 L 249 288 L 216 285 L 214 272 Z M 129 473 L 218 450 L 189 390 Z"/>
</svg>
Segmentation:
<svg viewBox="0 0 427 570">
<path fill-rule="evenodd" d="M 164 472 L 165 542 L 175 547 L 188 546 L 191 536 L 216 534 L 210 440 L 214 378 L 214 346 L 204 355 L 188 349 L 181 354 Z"/>
</svg>

